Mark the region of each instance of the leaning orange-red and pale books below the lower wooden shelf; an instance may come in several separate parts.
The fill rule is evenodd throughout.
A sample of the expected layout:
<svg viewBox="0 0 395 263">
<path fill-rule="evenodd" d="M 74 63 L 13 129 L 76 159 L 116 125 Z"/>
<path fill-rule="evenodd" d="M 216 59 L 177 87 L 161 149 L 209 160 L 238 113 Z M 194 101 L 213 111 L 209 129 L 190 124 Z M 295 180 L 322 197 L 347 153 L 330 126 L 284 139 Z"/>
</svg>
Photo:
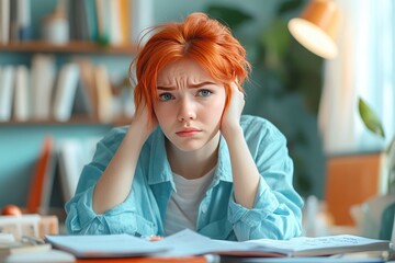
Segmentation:
<svg viewBox="0 0 395 263">
<path fill-rule="evenodd" d="M 83 165 L 92 159 L 99 139 L 92 137 L 55 140 L 52 136 L 43 139 L 26 199 L 29 214 L 50 213 L 56 176 L 60 182 L 64 202 L 74 196 Z"/>
</svg>

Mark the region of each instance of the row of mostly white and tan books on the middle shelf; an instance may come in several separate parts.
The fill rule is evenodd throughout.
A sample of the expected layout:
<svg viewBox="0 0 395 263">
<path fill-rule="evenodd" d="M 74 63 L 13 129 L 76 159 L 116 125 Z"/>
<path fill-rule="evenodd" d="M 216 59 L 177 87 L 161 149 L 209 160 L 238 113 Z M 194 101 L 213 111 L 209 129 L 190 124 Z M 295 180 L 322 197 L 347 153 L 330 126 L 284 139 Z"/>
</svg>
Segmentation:
<svg viewBox="0 0 395 263">
<path fill-rule="evenodd" d="M 104 65 L 75 59 L 57 70 L 54 56 L 37 54 L 31 69 L 0 66 L 0 122 L 67 122 L 72 114 L 102 123 L 120 115 L 131 117 L 132 89 L 126 84 L 113 87 Z"/>
</svg>

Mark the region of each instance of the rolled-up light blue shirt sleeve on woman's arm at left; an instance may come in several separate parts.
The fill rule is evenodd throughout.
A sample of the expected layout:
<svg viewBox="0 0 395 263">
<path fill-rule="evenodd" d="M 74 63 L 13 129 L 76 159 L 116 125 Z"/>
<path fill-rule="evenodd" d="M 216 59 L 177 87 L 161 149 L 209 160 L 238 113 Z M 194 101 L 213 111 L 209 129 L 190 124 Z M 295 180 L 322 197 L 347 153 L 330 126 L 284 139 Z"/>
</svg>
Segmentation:
<svg viewBox="0 0 395 263">
<path fill-rule="evenodd" d="M 102 233 L 132 233 L 154 235 L 157 226 L 144 219 L 136 207 L 136 196 L 147 195 L 139 188 L 135 195 L 129 195 L 125 202 L 97 214 L 92 207 L 94 186 L 103 173 L 105 167 L 112 159 L 116 148 L 122 141 L 123 133 L 120 129 L 112 130 L 109 136 L 98 142 L 93 160 L 87 164 L 80 175 L 75 196 L 66 203 L 66 230 L 72 235 L 102 235 Z M 136 185 L 142 184 L 140 176 L 135 178 Z M 135 183 L 134 183 L 135 185 Z M 138 198 L 138 197 L 137 197 Z M 148 203 L 149 196 L 146 196 Z"/>
</svg>

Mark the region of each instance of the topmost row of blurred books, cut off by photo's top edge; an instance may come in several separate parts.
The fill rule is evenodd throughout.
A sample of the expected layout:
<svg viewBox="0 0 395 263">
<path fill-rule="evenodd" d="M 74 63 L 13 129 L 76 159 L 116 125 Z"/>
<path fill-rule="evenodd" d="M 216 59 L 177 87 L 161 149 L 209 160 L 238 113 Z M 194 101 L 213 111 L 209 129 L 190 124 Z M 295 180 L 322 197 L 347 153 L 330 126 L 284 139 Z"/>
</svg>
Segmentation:
<svg viewBox="0 0 395 263">
<path fill-rule="evenodd" d="M 32 0 L 0 1 L 0 44 L 33 38 Z M 110 45 L 134 43 L 140 32 L 154 24 L 151 0 L 67 0 L 56 12 L 68 21 L 69 38 Z M 54 15 L 53 15 L 54 16 Z M 43 26 L 43 25 L 42 25 Z M 36 36 L 34 36 L 36 38 Z"/>
</svg>

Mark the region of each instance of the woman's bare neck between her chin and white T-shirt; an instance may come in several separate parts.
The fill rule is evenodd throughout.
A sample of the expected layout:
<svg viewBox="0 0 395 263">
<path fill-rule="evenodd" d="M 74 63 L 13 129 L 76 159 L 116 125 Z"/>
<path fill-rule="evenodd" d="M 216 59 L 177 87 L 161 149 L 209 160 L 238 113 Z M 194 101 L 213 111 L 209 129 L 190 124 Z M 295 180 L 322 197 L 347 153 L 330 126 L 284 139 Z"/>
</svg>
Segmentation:
<svg viewBox="0 0 395 263">
<path fill-rule="evenodd" d="M 181 151 L 168 140 L 166 144 L 171 170 L 185 179 L 202 178 L 217 163 L 219 133 L 203 148 L 195 151 Z"/>
</svg>

